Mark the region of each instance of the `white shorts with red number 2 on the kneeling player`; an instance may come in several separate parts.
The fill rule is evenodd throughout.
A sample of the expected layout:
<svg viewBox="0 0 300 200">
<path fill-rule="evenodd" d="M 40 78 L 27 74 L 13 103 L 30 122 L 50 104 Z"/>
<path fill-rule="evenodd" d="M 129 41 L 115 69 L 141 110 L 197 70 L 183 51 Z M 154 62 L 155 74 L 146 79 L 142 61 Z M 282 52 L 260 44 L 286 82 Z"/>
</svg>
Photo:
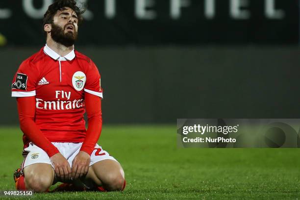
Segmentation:
<svg viewBox="0 0 300 200">
<path fill-rule="evenodd" d="M 52 144 L 59 150 L 59 152 L 68 160 L 70 167 L 72 168 L 72 161 L 79 152 L 82 142 L 81 143 L 61 143 L 61 142 L 52 142 Z M 27 155 L 25 155 L 27 154 Z M 34 145 L 33 143 L 29 143 L 29 147 L 24 149 L 23 152 L 24 161 L 22 163 L 21 169 L 25 168 L 28 165 L 32 165 L 35 163 L 47 163 L 52 166 L 54 169 L 50 158 L 46 151 L 42 150 L 38 146 Z M 114 157 L 110 156 L 107 151 L 102 150 L 102 148 L 96 144 L 95 148 L 91 154 L 91 162 L 90 166 L 99 162 L 101 160 L 115 160 Z M 118 162 L 118 161 L 117 161 Z"/>
</svg>

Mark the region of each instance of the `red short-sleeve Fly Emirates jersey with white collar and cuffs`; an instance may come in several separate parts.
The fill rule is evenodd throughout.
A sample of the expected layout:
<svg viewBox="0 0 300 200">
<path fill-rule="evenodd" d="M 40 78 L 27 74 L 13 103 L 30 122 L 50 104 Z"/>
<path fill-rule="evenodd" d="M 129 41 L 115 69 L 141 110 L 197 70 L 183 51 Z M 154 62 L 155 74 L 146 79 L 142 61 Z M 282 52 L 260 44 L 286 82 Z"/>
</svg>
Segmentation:
<svg viewBox="0 0 300 200">
<path fill-rule="evenodd" d="M 78 51 L 62 57 L 47 45 L 27 58 L 12 83 L 12 97 L 36 98 L 35 123 L 50 142 L 83 142 L 84 94 L 100 98 L 100 74 Z"/>
</svg>

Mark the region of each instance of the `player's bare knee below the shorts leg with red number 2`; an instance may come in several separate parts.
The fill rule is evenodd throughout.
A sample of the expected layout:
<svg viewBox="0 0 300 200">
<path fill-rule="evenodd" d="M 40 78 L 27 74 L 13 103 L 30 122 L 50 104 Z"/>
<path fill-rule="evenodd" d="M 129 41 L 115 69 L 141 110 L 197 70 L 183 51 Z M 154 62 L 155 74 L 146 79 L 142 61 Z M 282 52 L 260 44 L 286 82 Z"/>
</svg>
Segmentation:
<svg viewBox="0 0 300 200">
<path fill-rule="evenodd" d="M 122 191 L 124 186 L 125 178 L 119 174 L 107 175 L 106 182 L 103 183 L 104 188 L 107 191 Z"/>
</svg>

